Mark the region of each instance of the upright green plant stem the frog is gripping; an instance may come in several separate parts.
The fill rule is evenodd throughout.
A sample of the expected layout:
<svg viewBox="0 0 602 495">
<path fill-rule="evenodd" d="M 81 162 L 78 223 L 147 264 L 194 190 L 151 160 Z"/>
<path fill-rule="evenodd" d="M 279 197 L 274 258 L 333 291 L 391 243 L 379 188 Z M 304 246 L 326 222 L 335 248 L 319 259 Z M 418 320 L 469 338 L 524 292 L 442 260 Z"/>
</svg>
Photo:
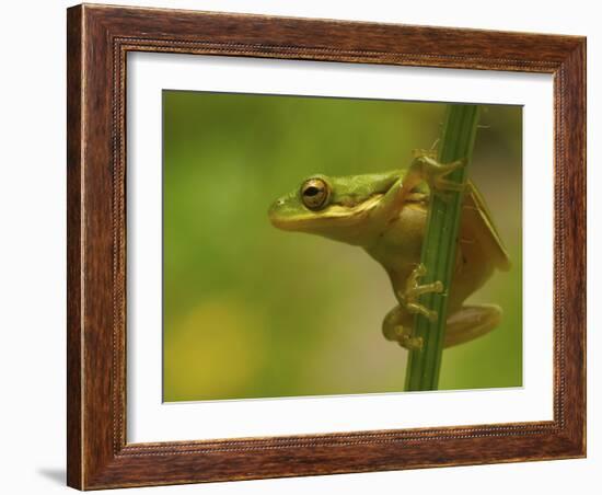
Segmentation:
<svg viewBox="0 0 602 495">
<path fill-rule="evenodd" d="M 438 161 L 452 163 L 465 160 L 466 165 L 445 179 L 458 184 L 466 183 L 478 123 L 478 105 L 450 104 L 447 107 L 443 133 L 439 143 Z M 406 391 L 437 390 L 443 354 L 448 293 L 451 286 L 458 232 L 462 217 L 461 192 L 431 192 L 427 217 L 421 263 L 427 268 L 420 284 L 441 280 L 442 293 L 426 293 L 420 303 L 437 312 L 436 322 L 417 314 L 414 335 L 422 338 L 421 349 L 410 350 L 406 370 Z"/>
</svg>

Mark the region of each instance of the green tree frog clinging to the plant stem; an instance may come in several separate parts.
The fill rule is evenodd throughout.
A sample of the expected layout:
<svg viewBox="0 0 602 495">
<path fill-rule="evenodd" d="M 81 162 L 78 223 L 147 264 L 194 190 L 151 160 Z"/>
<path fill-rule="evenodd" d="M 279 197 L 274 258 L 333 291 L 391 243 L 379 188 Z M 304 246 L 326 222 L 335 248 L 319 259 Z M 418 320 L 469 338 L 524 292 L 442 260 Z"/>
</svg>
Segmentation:
<svg viewBox="0 0 602 495">
<path fill-rule="evenodd" d="M 415 150 L 409 166 L 381 173 L 328 176 L 312 174 L 276 199 L 268 209 L 271 225 L 283 231 L 320 235 L 361 248 L 386 272 L 397 304 L 382 321 L 382 333 L 408 350 L 421 349 L 413 335 L 416 314 L 439 315 L 420 302 L 424 293 L 448 298 L 443 347 L 471 342 L 498 327 L 502 309 L 495 303 L 468 304 L 496 270 L 511 267 L 483 194 L 470 179 L 458 184 L 449 175 L 466 160 L 440 163 L 432 151 Z M 462 194 L 455 265 L 450 287 L 422 283 L 420 263 L 430 198 Z"/>
</svg>

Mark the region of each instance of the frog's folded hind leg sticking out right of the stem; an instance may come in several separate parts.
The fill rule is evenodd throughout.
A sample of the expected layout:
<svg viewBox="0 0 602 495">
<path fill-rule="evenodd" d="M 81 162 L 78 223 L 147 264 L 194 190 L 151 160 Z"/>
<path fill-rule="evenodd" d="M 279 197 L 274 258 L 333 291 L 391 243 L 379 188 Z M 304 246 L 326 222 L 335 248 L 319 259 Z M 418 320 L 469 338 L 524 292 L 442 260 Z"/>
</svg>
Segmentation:
<svg viewBox="0 0 602 495">
<path fill-rule="evenodd" d="M 443 347 L 464 344 L 489 333 L 501 321 L 501 308 L 497 304 L 464 306 L 448 318 Z"/>
</svg>

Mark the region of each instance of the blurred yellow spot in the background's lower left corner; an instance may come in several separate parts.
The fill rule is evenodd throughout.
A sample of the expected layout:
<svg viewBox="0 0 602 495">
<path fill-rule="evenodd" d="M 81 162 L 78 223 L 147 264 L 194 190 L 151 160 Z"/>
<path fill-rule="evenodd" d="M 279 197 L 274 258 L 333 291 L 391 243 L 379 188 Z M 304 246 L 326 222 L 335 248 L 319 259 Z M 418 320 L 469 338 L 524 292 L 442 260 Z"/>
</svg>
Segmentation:
<svg viewBox="0 0 602 495">
<path fill-rule="evenodd" d="M 235 399 L 264 361 L 262 318 L 234 299 L 204 301 L 165 329 L 164 400 Z"/>
</svg>

